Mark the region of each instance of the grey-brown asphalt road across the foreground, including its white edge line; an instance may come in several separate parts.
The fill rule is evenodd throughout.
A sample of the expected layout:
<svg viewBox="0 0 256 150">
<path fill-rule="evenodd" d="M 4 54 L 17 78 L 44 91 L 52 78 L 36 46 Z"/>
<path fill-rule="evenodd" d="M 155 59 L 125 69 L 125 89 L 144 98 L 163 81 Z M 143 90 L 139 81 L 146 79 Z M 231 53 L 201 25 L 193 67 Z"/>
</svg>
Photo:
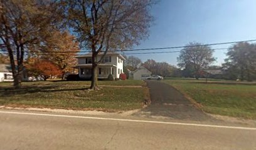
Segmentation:
<svg viewBox="0 0 256 150">
<path fill-rule="evenodd" d="M 16 112 L 0 110 L 0 149 L 256 149 L 255 128 Z"/>
</svg>

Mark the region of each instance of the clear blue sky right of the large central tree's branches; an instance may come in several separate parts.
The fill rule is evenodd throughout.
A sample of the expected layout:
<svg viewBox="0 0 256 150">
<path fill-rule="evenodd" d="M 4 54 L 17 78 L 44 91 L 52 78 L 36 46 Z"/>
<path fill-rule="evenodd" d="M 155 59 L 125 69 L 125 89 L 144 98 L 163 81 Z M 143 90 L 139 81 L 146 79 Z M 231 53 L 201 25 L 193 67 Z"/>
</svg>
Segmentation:
<svg viewBox="0 0 256 150">
<path fill-rule="evenodd" d="M 134 49 L 184 46 L 188 42 L 211 44 L 256 39 L 255 0 L 161 0 L 152 8 L 151 13 L 155 21 L 150 28 L 150 36 L 141 41 L 139 46 L 134 46 Z M 154 51 L 177 50 L 179 49 Z M 226 50 L 215 51 L 216 65 L 224 62 L 225 53 Z M 164 53 L 135 56 L 142 61 L 154 59 L 176 65 L 178 55 L 179 53 Z"/>
</svg>

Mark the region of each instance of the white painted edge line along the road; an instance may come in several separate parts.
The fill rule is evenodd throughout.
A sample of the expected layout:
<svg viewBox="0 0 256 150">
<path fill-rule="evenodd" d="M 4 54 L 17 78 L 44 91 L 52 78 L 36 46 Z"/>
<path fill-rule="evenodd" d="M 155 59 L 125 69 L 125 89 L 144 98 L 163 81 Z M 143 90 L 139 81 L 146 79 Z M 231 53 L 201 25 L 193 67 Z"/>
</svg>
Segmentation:
<svg viewBox="0 0 256 150">
<path fill-rule="evenodd" d="M 133 120 L 133 119 L 97 118 L 97 117 L 86 117 L 86 116 L 68 116 L 68 115 L 62 115 L 62 114 L 21 113 L 21 112 L 14 112 L 14 111 L 0 111 L 0 113 L 2 113 L 2 114 L 35 115 L 35 116 L 51 116 L 51 117 L 62 117 L 62 118 L 81 118 L 81 119 L 127 121 L 127 122 L 137 122 L 137 123 L 172 124 L 172 125 L 200 126 L 200 127 L 211 127 L 211 128 L 256 130 L 256 128 L 247 128 L 247 127 L 238 127 L 238 126 L 218 126 L 218 125 L 211 125 L 211 124 L 191 124 L 191 123 L 175 123 L 175 122 L 146 121 L 146 120 Z"/>
</svg>

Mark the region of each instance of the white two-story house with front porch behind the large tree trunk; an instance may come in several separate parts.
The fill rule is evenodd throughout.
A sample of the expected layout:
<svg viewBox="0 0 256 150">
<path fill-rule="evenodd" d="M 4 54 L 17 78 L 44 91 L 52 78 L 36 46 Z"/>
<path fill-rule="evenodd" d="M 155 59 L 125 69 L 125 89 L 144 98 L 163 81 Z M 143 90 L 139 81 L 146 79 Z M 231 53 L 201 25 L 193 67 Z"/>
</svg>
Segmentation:
<svg viewBox="0 0 256 150">
<path fill-rule="evenodd" d="M 103 53 L 98 54 L 97 61 L 100 60 Z M 91 79 L 92 77 L 92 53 L 80 55 L 76 57 L 78 59 L 78 69 L 80 79 Z M 113 74 L 114 78 L 119 78 L 119 75 L 124 72 L 125 58 L 113 51 L 107 52 L 102 59 L 102 62 L 98 66 L 98 78 L 107 78 L 109 74 Z"/>
</svg>

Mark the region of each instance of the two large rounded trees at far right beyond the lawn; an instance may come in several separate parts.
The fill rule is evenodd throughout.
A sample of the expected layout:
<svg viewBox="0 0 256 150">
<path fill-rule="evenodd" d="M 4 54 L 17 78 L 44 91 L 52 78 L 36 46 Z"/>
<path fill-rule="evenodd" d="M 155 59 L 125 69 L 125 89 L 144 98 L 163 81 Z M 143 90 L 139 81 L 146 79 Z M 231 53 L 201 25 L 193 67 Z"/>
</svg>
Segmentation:
<svg viewBox="0 0 256 150">
<path fill-rule="evenodd" d="M 228 48 L 227 59 L 222 66 L 211 66 L 214 50 L 200 43 L 189 43 L 181 50 L 178 66 L 184 77 L 194 76 L 196 79 L 205 76 L 205 70 L 221 70 L 223 79 L 256 80 L 256 44 L 238 42 Z"/>
</svg>

